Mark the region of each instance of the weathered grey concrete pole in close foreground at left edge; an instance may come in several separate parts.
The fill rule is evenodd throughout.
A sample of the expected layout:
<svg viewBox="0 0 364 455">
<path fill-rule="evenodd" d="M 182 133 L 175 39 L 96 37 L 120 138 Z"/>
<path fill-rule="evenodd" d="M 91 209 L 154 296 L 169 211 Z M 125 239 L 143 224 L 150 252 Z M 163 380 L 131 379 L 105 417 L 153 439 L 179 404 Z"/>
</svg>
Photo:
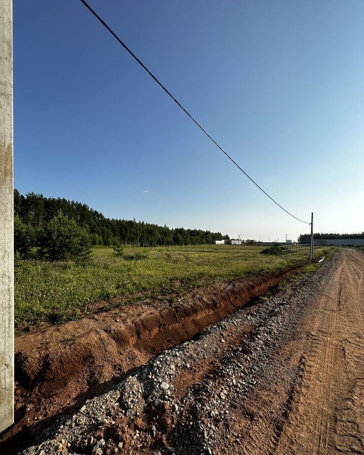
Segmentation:
<svg viewBox="0 0 364 455">
<path fill-rule="evenodd" d="M 12 0 L 0 0 L 0 432 L 14 423 L 12 19 Z"/>
</svg>

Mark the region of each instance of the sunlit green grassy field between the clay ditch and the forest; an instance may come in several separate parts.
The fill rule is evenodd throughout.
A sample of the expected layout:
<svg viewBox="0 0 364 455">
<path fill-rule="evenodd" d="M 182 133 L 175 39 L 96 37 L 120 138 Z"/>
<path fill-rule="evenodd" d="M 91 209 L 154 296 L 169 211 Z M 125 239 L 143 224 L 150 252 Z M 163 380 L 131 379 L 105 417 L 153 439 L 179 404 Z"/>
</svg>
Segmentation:
<svg viewBox="0 0 364 455">
<path fill-rule="evenodd" d="M 104 309 L 126 297 L 123 303 L 171 292 L 183 293 L 207 283 L 304 265 L 307 253 L 291 256 L 258 254 L 262 248 L 224 246 L 217 251 L 180 252 L 171 248 L 149 249 L 143 260 L 116 257 L 111 248 L 95 248 L 86 266 L 69 262 L 25 260 L 15 271 L 15 321 L 17 332 L 43 322 L 63 323 L 93 312 L 90 304 L 110 300 Z M 196 249 L 196 247 L 195 247 Z M 202 252 L 201 252 L 202 249 Z M 330 247 L 314 251 L 315 258 Z M 142 250 L 142 249 L 140 249 Z M 179 251 L 178 251 L 179 250 Z M 125 249 L 126 254 L 132 250 Z M 119 303 L 120 304 L 120 303 Z"/>
</svg>

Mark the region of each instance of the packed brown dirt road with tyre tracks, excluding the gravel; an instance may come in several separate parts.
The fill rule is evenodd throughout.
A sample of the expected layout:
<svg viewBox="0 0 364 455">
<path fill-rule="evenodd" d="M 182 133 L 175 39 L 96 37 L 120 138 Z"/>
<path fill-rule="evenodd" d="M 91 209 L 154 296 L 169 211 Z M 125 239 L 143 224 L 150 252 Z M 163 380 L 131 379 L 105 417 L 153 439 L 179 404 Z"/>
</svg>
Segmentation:
<svg viewBox="0 0 364 455">
<path fill-rule="evenodd" d="M 303 381 L 277 453 L 364 453 L 363 273 L 364 254 L 339 251 L 312 302 Z"/>
</svg>

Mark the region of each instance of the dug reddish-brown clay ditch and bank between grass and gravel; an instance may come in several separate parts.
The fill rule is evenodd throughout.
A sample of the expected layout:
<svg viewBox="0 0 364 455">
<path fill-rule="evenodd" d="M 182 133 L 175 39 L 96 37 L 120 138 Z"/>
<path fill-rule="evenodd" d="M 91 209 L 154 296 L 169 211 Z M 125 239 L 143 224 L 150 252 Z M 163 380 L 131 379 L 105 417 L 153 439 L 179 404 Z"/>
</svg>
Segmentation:
<svg viewBox="0 0 364 455">
<path fill-rule="evenodd" d="M 16 338 L 15 424 L 0 435 L 0 450 L 16 453 L 57 416 L 246 306 L 296 271 L 205 286 L 174 303 L 156 299 L 124 305 Z"/>
</svg>

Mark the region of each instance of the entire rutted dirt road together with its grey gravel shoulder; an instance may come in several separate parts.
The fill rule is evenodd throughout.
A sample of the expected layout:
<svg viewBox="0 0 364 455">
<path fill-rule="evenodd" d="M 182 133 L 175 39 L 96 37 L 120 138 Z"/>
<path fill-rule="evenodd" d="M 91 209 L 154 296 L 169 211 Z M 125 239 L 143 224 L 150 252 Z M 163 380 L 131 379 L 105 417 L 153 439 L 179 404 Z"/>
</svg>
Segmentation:
<svg viewBox="0 0 364 455">
<path fill-rule="evenodd" d="M 236 311 L 23 453 L 364 454 L 364 254 Z"/>
</svg>

